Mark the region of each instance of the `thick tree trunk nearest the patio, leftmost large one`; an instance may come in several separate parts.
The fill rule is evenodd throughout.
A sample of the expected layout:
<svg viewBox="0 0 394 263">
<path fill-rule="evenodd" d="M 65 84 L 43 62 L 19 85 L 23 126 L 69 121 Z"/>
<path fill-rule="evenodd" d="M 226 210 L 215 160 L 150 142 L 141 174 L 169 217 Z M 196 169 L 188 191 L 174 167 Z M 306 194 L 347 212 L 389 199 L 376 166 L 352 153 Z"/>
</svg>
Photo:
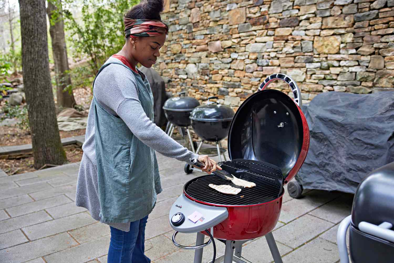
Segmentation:
<svg viewBox="0 0 394 263">
<path fill-rule="evenodd" d="M 49 74 L 45 0 L 19 0 L 23 82 L 32 133 L 34 168 L 64 164 Z"/>
</svg>

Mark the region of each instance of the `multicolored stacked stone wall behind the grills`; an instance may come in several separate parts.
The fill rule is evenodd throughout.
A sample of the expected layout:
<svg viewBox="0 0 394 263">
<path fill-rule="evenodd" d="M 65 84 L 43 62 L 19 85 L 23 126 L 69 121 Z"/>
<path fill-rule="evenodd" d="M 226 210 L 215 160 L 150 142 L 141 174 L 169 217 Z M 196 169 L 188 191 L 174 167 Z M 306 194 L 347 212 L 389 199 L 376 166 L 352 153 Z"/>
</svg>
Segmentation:
<svg viewBox="0 0 394 263">
<path fill-rule="evenodd" d="M 320 92 L 394 90 L 394 0 L 167 0 L 167 89 L 234 107 L 272 73 Z M 289 93 L 284 82 L 269 86 Z"/>
</svg>

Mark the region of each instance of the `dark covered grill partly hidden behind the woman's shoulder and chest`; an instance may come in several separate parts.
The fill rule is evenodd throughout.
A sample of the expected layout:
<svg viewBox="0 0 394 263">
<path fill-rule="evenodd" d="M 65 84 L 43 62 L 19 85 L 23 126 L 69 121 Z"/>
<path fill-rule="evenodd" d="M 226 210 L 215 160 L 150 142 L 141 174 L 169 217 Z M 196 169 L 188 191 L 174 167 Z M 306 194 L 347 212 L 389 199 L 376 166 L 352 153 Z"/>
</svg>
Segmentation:
<svg viewBox="0 0 394 263">
<path fill-rule="evenodd" d="M 153 122 L 162 127 L 167 122 L 167 119 L 164 115 L 163 106 L 165 101 L 167 100 L 167 95 L 165 94 L 165 82 L 163 78 L 151 67 L 139 67 L 138 68 L 142 73 L 147 76 L 149 85 L 151 85 L 151 90 L 153 93 Z"/>
</svg>

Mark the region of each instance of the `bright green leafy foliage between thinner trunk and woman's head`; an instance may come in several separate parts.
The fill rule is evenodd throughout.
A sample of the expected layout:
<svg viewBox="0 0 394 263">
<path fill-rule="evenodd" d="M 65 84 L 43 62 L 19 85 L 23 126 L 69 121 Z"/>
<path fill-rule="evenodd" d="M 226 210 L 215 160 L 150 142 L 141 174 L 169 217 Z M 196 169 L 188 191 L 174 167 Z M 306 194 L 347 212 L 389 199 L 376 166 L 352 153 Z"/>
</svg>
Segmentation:
<svg viewBox="0 0 394 263">
<path fill-rule="evenodd" d="M 138 0 L 84 0 L 80 22 L 63 9 L 65 28 L 70 34 L 74 57 L 89 58 L 89 70 L 95 75 L 100 66 L 125 44 L 123 14 Z"/>
</svg>

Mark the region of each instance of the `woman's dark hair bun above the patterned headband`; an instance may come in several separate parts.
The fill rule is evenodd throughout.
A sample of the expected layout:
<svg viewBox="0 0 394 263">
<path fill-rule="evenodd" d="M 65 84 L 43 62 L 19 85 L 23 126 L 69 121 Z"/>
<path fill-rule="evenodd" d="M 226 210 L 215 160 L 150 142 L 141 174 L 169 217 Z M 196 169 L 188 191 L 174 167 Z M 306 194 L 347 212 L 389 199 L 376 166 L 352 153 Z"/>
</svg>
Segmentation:
<svg viewBox="0 0 394 263">
<path fill-rule="evenodd" d="M 160 13 L 163 9 L 164 0 L 142 0 L 138 5 L 125 13 L 125 17 L 130 19 L 154 19 L 161 21 Z"/>
</svg>

